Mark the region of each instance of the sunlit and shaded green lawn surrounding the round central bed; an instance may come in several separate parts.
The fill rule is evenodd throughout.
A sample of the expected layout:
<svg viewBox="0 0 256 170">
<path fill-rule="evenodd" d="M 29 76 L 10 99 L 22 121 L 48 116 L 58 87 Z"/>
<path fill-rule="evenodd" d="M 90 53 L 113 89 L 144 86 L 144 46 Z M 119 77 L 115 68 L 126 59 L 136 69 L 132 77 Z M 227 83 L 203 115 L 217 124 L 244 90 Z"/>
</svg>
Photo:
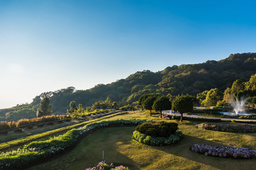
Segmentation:
<svg viewBox="0 0 256 170">
<path fill-rule="evenodd" d="M 116 118 L 149 118 L 139 112 L 117 115 Z M 150 117 L 151 119 L 158 119 Z M 166 120 L 176 122 L 176 120 Z M 135 127 L 105 128 L 87 135 L 70 152 L 55 157 L 33 169 L 85 169 L 101 161 L 102 150 L 105 159 L 130 169 L 254 169 L 255 159 L 225 159 L 206 157 L 190 151 L 193 144 L 226 145 L 256 149 L 256 133 L 230 133 L 198 130 L 198 122 L 178 123 L 184 138 L 173 146 L 152 147 L 132 139 Z M 214 140 L 213 140 L 214 139 Z"/>
</svg>

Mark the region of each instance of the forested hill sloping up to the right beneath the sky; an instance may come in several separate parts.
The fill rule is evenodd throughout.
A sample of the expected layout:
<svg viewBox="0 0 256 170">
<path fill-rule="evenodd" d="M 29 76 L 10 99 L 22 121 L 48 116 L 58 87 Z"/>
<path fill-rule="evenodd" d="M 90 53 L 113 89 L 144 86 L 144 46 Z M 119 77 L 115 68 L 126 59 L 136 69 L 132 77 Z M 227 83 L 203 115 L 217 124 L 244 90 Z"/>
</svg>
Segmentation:
<svg viewBox="0 0 256 170">
<path fill-rule="evenodd" d="M 111 84 L 98 84 L 92 89 L 78 90 L 68 87 L 58 91 L 46 92 L 33 98 L 33 102 L 23 106 L 1 109 L 0 116 L 18 119 L 19 111 L 27 115 L 36 115 L 41 96 L 50 96 L 50 103 L 55 114 L 62 114 L 69 108 L 70 101 L 92 106 L 95 101 L 105 100 L 133 103 L 139 96 L 148 93 L 159 94 L 198 94 L 202 91 L 218 88 L 224 91 L 232 86 L 233 81 L 248 81 L 256 73 L 256 53 L 230 55 L 220 61 L 210 60 L 201 64 L 182 64 L 166 67 L 161 72 L 136 72 L 126 79 L 119 79 Z M 22 114 L 21 114 L 22 115 Z"/>
</svg>

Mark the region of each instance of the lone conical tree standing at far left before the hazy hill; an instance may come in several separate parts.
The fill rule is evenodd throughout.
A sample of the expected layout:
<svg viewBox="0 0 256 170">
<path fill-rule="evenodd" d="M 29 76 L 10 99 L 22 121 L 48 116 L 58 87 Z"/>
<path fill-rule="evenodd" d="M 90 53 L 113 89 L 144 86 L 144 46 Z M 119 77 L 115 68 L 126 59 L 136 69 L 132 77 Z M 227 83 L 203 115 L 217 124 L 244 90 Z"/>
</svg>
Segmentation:
<svg viewBox="0 0 256 170">
<path fill-rule="evenodd" d="M 39 105 L 39 108 L 36 111 L 36 116 L 42 117 L 44 115 L 50 115 L 52 111 L 50 111 L 51 105 L 50 105 L 50 98 L 48 96 L 45 96 Z"/>
</svg>

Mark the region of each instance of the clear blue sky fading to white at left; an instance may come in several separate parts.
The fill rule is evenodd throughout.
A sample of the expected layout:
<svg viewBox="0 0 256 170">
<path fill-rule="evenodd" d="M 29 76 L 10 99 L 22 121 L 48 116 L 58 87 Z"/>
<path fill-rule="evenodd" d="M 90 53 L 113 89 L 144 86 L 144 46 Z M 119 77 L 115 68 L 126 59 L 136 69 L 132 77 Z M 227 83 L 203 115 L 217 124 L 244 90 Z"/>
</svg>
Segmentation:
<svg viewBox="0 0 256 170">
<path fill-rule="evenodd" d="M 0 0 L 0 108 L 256 51 L 255 1 Z"/>
</svg>

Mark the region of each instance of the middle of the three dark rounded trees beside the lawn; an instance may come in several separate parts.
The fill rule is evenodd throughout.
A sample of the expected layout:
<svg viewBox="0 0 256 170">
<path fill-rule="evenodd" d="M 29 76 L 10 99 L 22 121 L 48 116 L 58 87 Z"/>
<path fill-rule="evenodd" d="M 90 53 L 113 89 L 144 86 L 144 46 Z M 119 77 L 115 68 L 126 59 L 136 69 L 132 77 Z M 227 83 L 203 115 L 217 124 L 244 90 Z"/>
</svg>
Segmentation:
<svg viewBox="0 0 256 170">
<path fill-rule="evenodd" d="M 162 111 L 171 109 L 171 101 L 169 101 L 168 97 L 161 96 L 159 98 L 156 98 L 156 101 L 154 101 L 152 108 L 154 110 L 160 111 L 160 118 L 162 118 Z"/>
</svg>

